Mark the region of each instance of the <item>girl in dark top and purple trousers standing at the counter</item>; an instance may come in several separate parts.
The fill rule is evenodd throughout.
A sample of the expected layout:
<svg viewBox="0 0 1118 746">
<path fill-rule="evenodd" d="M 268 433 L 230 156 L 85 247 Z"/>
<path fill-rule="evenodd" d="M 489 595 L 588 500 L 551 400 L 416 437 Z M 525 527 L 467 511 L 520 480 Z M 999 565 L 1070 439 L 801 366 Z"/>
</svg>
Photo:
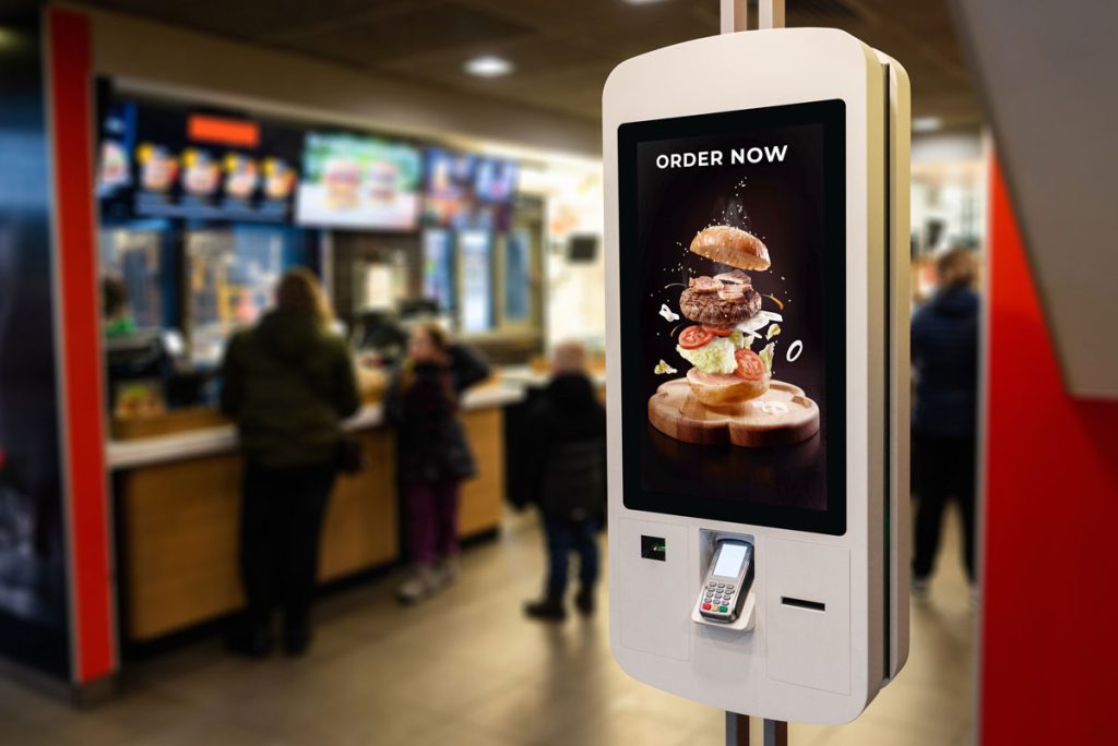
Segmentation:
<svg viewBox="0 0 1118 746">
<path fill-rule="evenodd" d="M 397 592 L 404 603 L 429 597 L 457 575 L 461 485 L 477 472 L 459 401 L 489 375 L 489 364 L 474 351 L 453 344 L 438 324 L 425 323 L 411 329 L 407 355 L 389 384 L 385 413 L 397 432 L 407 548 L 415 563 Z"/>
</svg>

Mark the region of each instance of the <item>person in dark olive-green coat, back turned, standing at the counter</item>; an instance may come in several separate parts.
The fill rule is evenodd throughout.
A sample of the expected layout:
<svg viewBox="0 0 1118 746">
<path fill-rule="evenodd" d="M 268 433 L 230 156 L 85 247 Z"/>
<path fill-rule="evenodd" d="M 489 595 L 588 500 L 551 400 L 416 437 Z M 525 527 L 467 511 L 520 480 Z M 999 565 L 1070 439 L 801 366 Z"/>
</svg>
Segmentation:
<svg viewBox="0 0 1118 746">
<path fill-rule="evenodd" d="M 318 279 L 292 269 L 276 307 L 237 333 L 222 365 L 221 411 L 237 420 L 245 456 L 240 570 L 247 610 L 233 647 L 268 654 L 276 605 L 283 642 L 311 643 L 311 603 L 326 501 L 337 476 L 341 420 L 360 405 L 349 347 L 330 331 Z"/>
</svg>

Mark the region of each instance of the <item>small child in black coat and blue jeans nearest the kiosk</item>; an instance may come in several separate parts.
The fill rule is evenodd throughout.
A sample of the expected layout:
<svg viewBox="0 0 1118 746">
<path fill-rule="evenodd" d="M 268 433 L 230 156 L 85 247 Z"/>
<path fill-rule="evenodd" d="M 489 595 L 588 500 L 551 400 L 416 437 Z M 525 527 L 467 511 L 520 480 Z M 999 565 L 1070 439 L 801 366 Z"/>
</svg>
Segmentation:
<svg viewBox="0 0 1118 746">
<path fill-rule="evenodd" d="M 594 612 L 598 581 L 597 535 L 606 507 L 606 411 L 585 372 L 586 351 L 577 342 L 556 348 L 553 377 L 524 422 L 520 504 L 540 510 L 548 547 L 548 576 L 541 600 L 528 603 L 530 619 L 561 621 L 567 612 L 568 560 L 579 557 L 575 605 Z"/>
</svg>

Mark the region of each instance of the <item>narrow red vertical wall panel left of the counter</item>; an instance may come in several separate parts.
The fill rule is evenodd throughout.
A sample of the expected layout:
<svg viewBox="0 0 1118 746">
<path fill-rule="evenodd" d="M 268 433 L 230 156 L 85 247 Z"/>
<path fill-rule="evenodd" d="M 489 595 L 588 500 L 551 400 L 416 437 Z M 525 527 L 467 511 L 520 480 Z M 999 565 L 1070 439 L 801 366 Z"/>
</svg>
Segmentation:
<svg viewBox="0 0 1118 746">
<path fill-rule="evenodd" d="M 47 23 L 74 680 L 80 685 L 116 666 L 93 214 L 93 60 L 84 15 L 51 8 Z"/>
</svg>

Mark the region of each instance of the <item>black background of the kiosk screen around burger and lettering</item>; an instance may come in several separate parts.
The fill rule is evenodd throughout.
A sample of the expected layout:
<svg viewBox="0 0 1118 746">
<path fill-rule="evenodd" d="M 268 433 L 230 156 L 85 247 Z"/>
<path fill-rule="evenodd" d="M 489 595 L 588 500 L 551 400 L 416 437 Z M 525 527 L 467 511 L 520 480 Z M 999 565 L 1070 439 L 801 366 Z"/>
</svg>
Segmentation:
<svg viewBox="0 0 1118 746">
<path fill-rule="evenodd" d="M 819 107 L 828 106 L 830 118 L 819 116 Z M 825 365 L 828 344 L 840 354 L 844 346 L 841 284 L 837 293 L 827 295 L 827 270 L 833 262 L 826 260 L 828 251 L 840 264 L 843 260 L 844 226 L 828 224 L 842 220 L 833 220 L 835 205 L 827 202 L 836 200 L 842 213 L 842 161 L 837 161 L 836 182 L 835 174 L 828 173 L 836 161 L 834 154 L 828 160 L 827 153 L 828 142 L 835 142 L 828 127 L 837 127 L 842 141 L 841 107 L 841 102 L 823 102 L 622 127 L 627 507 L 842 533 L 835 530 L 835 522 L 844 526 L 844 500 L 828 505 L 827 393 L 834 376 Z M 722 123 L 727 126 L 719 126 Z M 667 133 L 675 136 L 662 136 Z M 787 152 L 780 162 L 731 163 L 735 149 L 784 145 Z M 655 164 L 660 154 L 699 151 L 722 151 L 722 165 L 659 169 Z M 819 432 L 804 442 L 775 448 L 700 446 L 675 440 L 648 423 L 648 399 L 662 383 L 691 369 L 675 351 L 679 331 L 691 322 L 664 319 L 661 304 L 679 314 L 680 283 L 731 269 L 688 250 L 694 235 L 712 224 L 742 228 L 768 247 L 771 267 L 748 274 L 755 290 L 784 303 L 783 309 L 770 298 L 761 305 L 784 318 L 780 334 L 774 337 L 773 379 L 802 388 L 819 405 Z M 837 247 L 831 246 L 836 236 Z M 832 335 L 826 319 L 835 309 L 840 332 Z M 832 336 L 837 336 L 837 345 Z M 803 344 L 802 352 L 788 362 L 786 355 L 795 341 Z M 754 352 L 765 344 L 764 338 L 755 339 Z M 660 360 L 679 372 L 656 375 Z M 837 360 L 841 369 L 843 357 Z M 634 462 L 636 469 L 631 468 Z M 633 489 L 631 478 L 638 480 L 638 490 Z M 831 511 L 835 515 L 827 516 L 828 507 L 835 508 Z M 814 515 L 805 518 L 805 514 Z"/>
</svg>

